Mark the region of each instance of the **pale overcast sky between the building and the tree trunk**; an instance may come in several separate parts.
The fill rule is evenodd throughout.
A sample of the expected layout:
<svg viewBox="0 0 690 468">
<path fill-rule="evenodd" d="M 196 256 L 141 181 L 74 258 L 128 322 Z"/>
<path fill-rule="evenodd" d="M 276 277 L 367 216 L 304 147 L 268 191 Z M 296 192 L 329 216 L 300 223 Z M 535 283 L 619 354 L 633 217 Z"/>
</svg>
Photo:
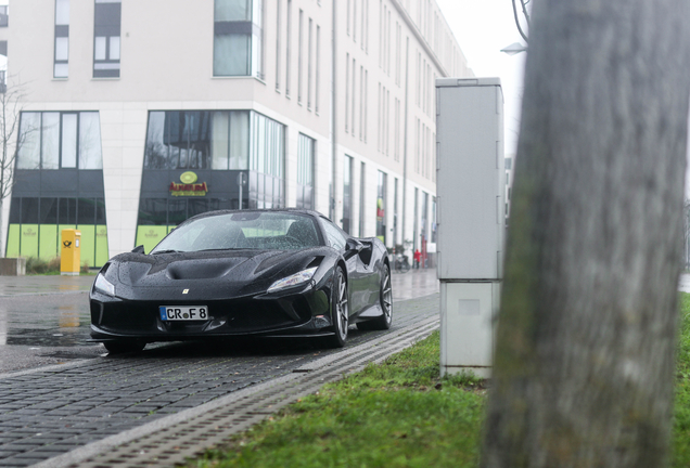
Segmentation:
<svg viewBox="0 0 690 468">
<path fill-rule="evenodd" d="M 436 0 L 468 65 L 477 77 L 499 77 L 503 90 L 506 156 L 515 154 L 525 53 L 500 50 L 522 42 L 510 0 Z"/>
</svg>

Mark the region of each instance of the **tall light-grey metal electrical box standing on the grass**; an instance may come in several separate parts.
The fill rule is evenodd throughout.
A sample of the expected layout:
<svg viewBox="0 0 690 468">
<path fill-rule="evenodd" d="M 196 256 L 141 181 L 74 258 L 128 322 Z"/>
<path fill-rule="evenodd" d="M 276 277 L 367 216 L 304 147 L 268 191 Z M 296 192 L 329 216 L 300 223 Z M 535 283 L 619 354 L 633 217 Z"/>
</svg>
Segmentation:
<svg viewBox="0 0 690 468">
<path fill-rule="evenodd" d="M 436 102 L 442 375 L 488 377 L 503 264 L 500 79 L 438 79 Z"/>
</svg>

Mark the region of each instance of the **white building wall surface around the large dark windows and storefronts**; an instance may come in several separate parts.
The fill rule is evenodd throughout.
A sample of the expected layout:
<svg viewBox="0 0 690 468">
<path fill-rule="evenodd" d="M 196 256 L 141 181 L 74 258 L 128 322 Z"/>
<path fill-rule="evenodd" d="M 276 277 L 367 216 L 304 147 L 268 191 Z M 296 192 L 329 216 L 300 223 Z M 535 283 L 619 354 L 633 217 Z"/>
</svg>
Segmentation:
<svg viewBox="0 0 690 468">
<path fill-rule="evenodd" d="M 435 193 L 434 78 L 472 74 L 435 2 L 264 2 L 263 76 L 217 77 L 213 1 L 123 0 L 119 78 L 92 77 L 93 0 L 69 0 L 67 78 L 53 78 L 54 1 L 11 3 L 0 40 L 8 41 L 10 84 L 26 89 L 24 109 L 100 113 L 111 255 L 133 247 L 149 112 L 166 109 L 252 109 L 283 123 L 288 206 L 296 197 L 298 134 L 310 136 L 315 208 L 329 214 L 333 203 L 336 222 L 343 216 L 343 160 L 353 157 L 355 235 L 362 209 L 361 233 L 375 235 L 378 174 L 385 172 L 386 244 L 412 239 L 414 188 L 420 209 L 421 194 Z"/>
</svg>

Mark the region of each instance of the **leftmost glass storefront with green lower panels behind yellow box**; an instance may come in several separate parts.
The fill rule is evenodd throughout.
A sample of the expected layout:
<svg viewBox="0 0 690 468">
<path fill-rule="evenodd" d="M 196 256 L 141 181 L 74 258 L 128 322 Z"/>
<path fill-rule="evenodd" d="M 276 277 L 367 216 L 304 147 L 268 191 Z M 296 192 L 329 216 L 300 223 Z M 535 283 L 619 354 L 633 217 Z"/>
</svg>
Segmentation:
<svg viewBox="0 0 690 468">
<path fill-rule="evenodd" d="M 97 112 L 23 112 L 7 257 L 60 256 L 64 229 L 81 232 L 81 262 L 108 259 Z"/>
</svg>

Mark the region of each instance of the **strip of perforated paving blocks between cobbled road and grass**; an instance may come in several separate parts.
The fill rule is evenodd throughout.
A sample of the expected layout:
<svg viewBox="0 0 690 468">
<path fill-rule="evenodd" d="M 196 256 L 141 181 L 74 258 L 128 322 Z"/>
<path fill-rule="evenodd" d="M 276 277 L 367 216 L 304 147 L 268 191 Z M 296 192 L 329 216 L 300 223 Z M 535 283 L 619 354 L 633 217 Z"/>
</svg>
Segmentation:
<svg viewBox="0 0 690 468">
<path fill-rule="evenodd" d="M 36 468 L 170 467 L 250 429 L 278 410 L 316 392 L 324 384 L 379 363 L 438 327 L 438 318 L 410 325 L 292 374 L 77 448 Z"/>
</svg>

